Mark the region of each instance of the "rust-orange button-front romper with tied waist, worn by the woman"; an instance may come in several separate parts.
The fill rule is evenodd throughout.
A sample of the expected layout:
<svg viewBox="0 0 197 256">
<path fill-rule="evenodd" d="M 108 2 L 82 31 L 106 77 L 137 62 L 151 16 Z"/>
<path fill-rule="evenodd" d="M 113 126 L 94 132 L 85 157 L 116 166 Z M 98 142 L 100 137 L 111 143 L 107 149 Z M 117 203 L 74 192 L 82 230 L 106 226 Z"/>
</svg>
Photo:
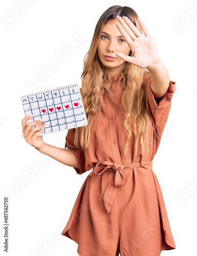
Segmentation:
<svg viewBox="0 0 197 256">
<path fill-rule="evenodd" d="M 117 95 L 114 77 L 112 95 L 121 103 L 123 90 Z M 162 191 L 152 170 L 154 158 L 176 91 L 170 81 L 164 97 L 152 94 L 148 78 L 146 102 L 149 110 L 149 153 L 134 155 L 134 138 L 129 139 L 126 156 L 122 156 L 126 133 L 124 110 L 117 108 L 105 89 L 103 113 L 94 119 L 88 148 L 74 142 L 74 129 L 68 131 L 66 144 L 78 162 L 77 174 L 88 170 L 62 235 L 78 244 L 81 256 L 158 256 L 162 250 L 175 249 Z M 121 82 L 122 83 L 122 82 Z"/>
</svg>

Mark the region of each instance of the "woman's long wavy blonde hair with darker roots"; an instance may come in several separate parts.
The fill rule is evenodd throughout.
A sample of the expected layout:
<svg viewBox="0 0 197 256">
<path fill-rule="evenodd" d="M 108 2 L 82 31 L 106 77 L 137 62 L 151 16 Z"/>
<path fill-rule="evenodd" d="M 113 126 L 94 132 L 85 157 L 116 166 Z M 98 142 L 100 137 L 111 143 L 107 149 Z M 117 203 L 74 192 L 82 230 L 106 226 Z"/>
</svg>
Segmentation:
<svg viewBox="0 0 197 256">
<path fill-rule="evenodd" d="M 76 146 L 79 146 L 80 144 L 80 147 L 83 150 L 84 147 L 87 148 L 89 144 L 92 121 L 94 118 L 96 118 L 98 112 L 102 111 L 101 102 L 104 94 L 103 84 L 106 79 L 106 69 L 98 56 L 98 42 L 101 36 L 103 25 L 110 20 L 116 19 L 117 15 L 124 15 L 128 17 L 142 34 L 142 29 L 138 22 L 137 13 L 128 6 L 111 6 L 99 18 L 94 31 L 90 49 L 83 59 L 84 66 L 83 73 L 81 74 L 82 86 L 80 92 L 88 124 L 86 126 L 75 128 L 74 144 Z M 130 54 L 132 54 L 131 51 L 129 55 Z M 118 88 L 120 82 L 123 82 L 124 93 L 122 95 L 122 104 L 117 104 L 117 102 L 113 99 L 112 88 L 107 91 L 111 97 L 111 100 L 116 104 L 116 106 L 118 108 L 122 107 L 125 111 L 123 126 L 127 134 L 127 139 L 125 141 L 122 155 L 125 156 L 126 154 L 128 140 L 132 136 L 132 132 L 135 135 L 134 154 L 138 153 L 138 140 L 140 141 L 141 145 L 141 154 L 145 154 L 146 152 L 149 152 L 148 123 L 150 122 L 148 119 L 148 109 L 146 104 L 146 84 L 143 83 L 143 78 L 144 76 L 148 77 L 149 72 L 144 68 L 140 68 L 130 62 L 125 61 L 125 66 L 121 73 L 122 74 L 118 80 Z M 145 80 L 147 81 L 147 79 Z"/>
</svg>

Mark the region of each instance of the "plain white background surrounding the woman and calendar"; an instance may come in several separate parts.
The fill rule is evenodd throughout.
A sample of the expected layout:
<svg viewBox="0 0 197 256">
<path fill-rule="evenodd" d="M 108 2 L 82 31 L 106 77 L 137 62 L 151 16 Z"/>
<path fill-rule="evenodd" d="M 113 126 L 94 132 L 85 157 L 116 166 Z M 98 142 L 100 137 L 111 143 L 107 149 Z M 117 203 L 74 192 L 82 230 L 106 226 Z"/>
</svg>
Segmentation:
<svg viewBox="0 0 197 256">
<path fill-rule="evenodd" d="M 21 11 L 23 2 L 28 2 L 29 7 L 11 23 L 6 21 L 13 12 Z M 3 202 L 7 196 L 9 255 L 78 255 L 78 245 L 60 233 L 90 172 L 77 175 L 74 168 L 39 153 L 25 141 L 21 127 L 25 113 L 20 97 L 31 92 L 28 84 L 33 84 L 35 76 L 43 72 L 42 67 L 55 60 L 57 68 L 32 92 L 74 82 L 81 87 L 83 58 L 96 23 L 108 7 L 117 4 L 132 7 L 143 19 L 156 41 L 170 80 L 177 82 L 153 162 L 177 247 L 162 251 L 161 255 L 196 255 L 197 3 L 180 0 L 1 1 L 1 253 L 4 250 Z M 183 18 L 186 16 L 187 21 Z M 62 48 L 71 47 L 76 34 L 83 37 L 81 44 L 64 60 L 58 57 Z M 66 131 L 49 134 L 43 140 L 64 148 L 66 134 Z M 34 174 L 29 180 L 28 173 Z M 52 237 L 56 241 L 50 247 Z M 41 254 L 40 248 L 45 247 L 46 252 Z"/>
</svg>

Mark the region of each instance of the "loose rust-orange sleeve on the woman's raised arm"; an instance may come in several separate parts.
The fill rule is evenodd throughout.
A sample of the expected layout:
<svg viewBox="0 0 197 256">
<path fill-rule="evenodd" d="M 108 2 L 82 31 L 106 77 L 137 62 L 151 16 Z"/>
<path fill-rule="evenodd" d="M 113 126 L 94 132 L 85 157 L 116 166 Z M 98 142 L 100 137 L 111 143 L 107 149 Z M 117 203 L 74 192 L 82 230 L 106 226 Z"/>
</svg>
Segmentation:
<svg viewBox="0 0 197 256">
<path fill-rule="evenodd" d="M 158 149 L 164 127 L 166 125 L 172 102 L 173 93 L 177 91 L 176 82 L 170 81 L 168 90 L 161 98 L 155 98 L 151 89 L 151 80 L 148 78 L 146 84 L 146 102 L 148 105 L 149 113 L 154 121 L 154 127 L 157 133 L 156 138 L 156 151 Z"/>
</svg>

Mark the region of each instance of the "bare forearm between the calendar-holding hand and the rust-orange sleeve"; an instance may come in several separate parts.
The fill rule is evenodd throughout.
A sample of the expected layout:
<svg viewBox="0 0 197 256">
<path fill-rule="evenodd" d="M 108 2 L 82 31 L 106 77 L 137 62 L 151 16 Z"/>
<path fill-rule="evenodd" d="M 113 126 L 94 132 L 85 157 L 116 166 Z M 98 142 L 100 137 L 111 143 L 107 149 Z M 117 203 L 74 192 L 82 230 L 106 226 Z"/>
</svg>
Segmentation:
<svg viewBox="0 0 197 256">
<path fill-rule="evenodd" d="M 43 147 L 41 147 L 38 151 L 42 154 L 54 158 L 60 163 L 69 165 L 74 168 L 79 168 L 77 159 L 73 152 L 70 150 L 45 143 Z"/>
</svg>

